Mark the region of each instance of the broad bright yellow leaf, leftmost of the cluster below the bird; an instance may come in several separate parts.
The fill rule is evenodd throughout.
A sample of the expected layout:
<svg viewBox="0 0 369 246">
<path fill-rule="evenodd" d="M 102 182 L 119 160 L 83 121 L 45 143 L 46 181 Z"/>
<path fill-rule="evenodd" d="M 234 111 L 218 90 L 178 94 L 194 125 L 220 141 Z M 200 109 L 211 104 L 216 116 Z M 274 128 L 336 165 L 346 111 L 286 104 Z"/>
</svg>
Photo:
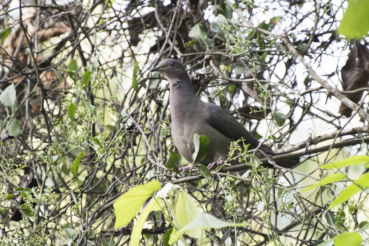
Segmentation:
<svg viewBox="0 0 369 246">
<path fill-rule="evenodd" d="M 160 182 L 154 180 L 149 181 L 146 184 L 141 184 L 139 186 L 133 187 L 126 193 L 122 194 L 120 198 L 113 204 L 115 212 L 114 228 L 118 229 L 122 226 L 128 225 L 131 219 L 136 216 L 137 211 L 142 207 L 142 204 L 144 204 L 144 202 L 152 195 L 152 193 L 159 190 L 160 188 Z"/>
</svg>

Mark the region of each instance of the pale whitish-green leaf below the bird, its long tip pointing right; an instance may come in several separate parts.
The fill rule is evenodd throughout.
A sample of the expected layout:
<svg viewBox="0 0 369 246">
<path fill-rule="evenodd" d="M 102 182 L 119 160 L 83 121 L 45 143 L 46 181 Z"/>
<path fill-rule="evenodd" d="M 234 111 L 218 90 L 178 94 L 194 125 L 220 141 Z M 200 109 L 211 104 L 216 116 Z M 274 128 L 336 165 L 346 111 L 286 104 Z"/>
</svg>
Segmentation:
<svg viewBox="0 0 369 246">
<path fill-rule="evenodd" d="M 178 232 L 176 232 L 175 235 L 172 234 L 171 238 L 179 238 L 183 233 L 187 233 L 187 231 L 193 229 L 209 229 L 209 228 L 219 229 L 229 226 L 247 226 L 247 225 L 249 224 L 247 223 L 233 224 L 230 222 L 222 221 L 211 214 L 200 214 L 196 218 L 194 218 L 190 224 L 187 224 Z"/>
</svg>

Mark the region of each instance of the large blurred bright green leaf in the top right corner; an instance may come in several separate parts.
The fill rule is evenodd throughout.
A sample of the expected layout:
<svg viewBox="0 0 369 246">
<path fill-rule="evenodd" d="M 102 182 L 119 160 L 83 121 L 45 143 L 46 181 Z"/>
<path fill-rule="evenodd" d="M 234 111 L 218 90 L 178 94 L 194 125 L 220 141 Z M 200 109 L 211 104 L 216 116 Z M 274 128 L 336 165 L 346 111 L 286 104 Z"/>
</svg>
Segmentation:
<svg viewBox="0 0 369 246">
<path fill-rule="evenodd" d="M 368 0 L 348 1 L 338 33 L 349 38 L 362 38 L 369 31 Z"/>
</svg>

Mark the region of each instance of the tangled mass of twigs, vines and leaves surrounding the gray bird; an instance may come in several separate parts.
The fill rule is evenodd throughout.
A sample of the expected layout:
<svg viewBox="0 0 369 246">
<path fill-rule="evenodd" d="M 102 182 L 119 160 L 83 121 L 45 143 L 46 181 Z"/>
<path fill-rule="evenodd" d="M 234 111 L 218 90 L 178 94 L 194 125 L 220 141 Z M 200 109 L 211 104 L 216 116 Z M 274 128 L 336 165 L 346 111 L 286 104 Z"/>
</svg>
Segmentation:
<svg viewBox="0 0 369 246">
<path fill-rule="evenodd" d="M 361 245 L 369 52 L 366 38 L 337 34 L 345 7 L 2 1 L 0 245 L 131 245 L 132 237 L 166 245 L 173 231 L 189 245 Z M 187 66 L 202 100 L 283 154 L 276 159 L 303 157 L 301 165 L 265 169 L 235 144 L 230 157 L 240 165 L 179 173 L 188 163 L 170 136 L 168 83 L 149 73 L 168 57 Z M 364 161 L 347 158 L 357 155 Z M 128 225 L 114 228 L 114 202 L 152 180 L 179 186 L 154 194 L 160 203 L 136 204 L 136 219 L 119 214 Z M 186 214 L 195 208 L 201 217 Z"/>
</svg>

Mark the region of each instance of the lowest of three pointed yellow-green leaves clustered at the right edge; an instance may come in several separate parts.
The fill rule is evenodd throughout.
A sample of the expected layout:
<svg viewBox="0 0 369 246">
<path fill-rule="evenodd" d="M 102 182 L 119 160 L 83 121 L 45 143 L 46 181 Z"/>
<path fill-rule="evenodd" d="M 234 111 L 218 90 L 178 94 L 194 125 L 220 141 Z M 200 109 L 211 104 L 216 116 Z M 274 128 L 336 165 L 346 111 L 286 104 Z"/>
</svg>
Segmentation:
<svg viewBox="0 0 369 246">
<path fill-rule="evenodd" d="M 338 197 L 332 202 L 332 204 L 328 207 L 328 210 L 349 200 L 353 195 L 358 193 L 359 191 L 363 191 L 369 187 L 369 173 L 366 173 L 360 176 L 357 180 L 353 181 L 353 183 L 347 187 Z"/>
</svg>

